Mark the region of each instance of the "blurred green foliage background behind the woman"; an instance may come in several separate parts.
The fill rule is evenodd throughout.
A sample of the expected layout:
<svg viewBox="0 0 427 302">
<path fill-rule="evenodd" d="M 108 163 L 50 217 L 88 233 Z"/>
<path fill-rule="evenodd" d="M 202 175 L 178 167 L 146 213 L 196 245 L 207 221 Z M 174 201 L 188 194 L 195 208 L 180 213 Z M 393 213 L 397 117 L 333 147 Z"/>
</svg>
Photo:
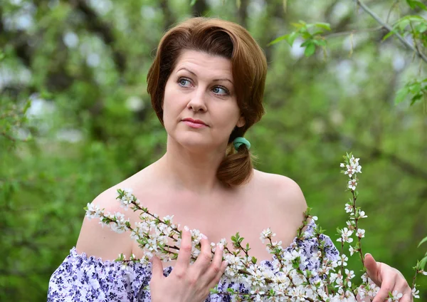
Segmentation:
<svg viewBox="0 0 427 302">
<path fill-rule="evenodd" d="M 352 151 L 364 252 L 411 283 L 427 234 L 426 64 L 354 1 L 237 2 L 1 1 L 0 301 L 46 301 L 85 204 L 163 154 L 147 70 L 164 30 L 200 15 L 242 24 L 265 50 L 267 114 L 247 135 L 258 169 L 295 179 L 336 239 L 348 199 L 339 162 Z M 367 5 L 425 53 L 421 2 Z M 424 21 L 404 27 L 405 16 Z M 292 46 L 269 46 L 285 34 Z M 424 301 L 426 278 L 417 283 Z"/>
</svg>

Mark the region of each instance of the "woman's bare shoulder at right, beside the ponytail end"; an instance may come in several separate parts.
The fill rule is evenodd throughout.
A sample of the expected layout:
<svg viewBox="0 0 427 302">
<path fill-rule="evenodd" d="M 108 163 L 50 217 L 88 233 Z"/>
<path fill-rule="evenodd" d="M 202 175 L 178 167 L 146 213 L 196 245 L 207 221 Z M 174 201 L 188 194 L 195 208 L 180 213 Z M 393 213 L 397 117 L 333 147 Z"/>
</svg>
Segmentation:
<svg viewBox="0 0 427 302">
<path fill-rule="evenodd" d="M 268 200 L 275 203 L 279 211 L 302 217 L 307 202 L 300 186 L 289 177 L 254 170 L 255 186 L 263 191 Z"/>
</svg>

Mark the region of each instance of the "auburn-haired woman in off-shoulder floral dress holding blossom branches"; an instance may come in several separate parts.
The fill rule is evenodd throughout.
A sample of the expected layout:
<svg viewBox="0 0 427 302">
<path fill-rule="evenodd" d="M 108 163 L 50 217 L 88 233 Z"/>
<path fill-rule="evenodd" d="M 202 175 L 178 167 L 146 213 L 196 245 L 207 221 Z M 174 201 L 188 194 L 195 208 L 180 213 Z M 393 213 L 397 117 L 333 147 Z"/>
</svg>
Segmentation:
<svg viewBox="0 0 427 302">
<path fill-rule="evenodd" d="M 163 270 L 155 257 L 152 268 L 138 264 L 122 269 L 112 260 L 120 253 L 142 257 L 138 244 L 130 234 L 117 234 L 85 218 L 75 249 L 51 278 L 48 301 L 229 301 L 229 296 L 209 296 L 226 268 L 221 246 L 213 256 L 209 242 L 240 231 L 251 255 L 260 260 L 271 259 L 259 240 L 262 229 L 275 230 L 283 246 L 292 243 L 307 208 L 300 187 L 288 177 L 254 170 L 250 144 L 242 138 L 264 113 L 266 71 L 263 51 L 238 24 L 194 18 L 164 35 L 147 90 L 167 131 L 167 152 L 102 192 L 93 204 L 119 212 L 117 189 L 132 188 L 150 212 L 173 214 L 176 222 L 205 234 L 201 254 L 189 264 L 191 236 L 184 231 L 173 270 Z M 132 224 L 138 221 L 137 213 L 126 213 Z M 334 259 L 337 250 L 330 239 L 328 243 L 327 256 Z M 401 301 L 412 301 L 399 271 L 371 256 L 365 264 L 381 285 L 374 302 L 384 301 L 394 290 L 404 293 Z M 148 283 L 149 292 L 144 290 Z M 238 284 L 221 280 L 221 286 Z"/>
</svg>

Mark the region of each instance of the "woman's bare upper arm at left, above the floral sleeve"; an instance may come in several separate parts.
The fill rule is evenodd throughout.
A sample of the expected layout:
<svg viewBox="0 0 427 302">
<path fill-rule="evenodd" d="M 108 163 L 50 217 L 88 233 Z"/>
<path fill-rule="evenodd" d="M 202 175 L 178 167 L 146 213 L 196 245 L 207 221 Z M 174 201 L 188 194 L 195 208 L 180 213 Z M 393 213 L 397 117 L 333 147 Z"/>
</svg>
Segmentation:
<svg viewBox="0 0 427 302">
<path fill-rule="evenodd" d="M 133 211 L 123 209 L 115 199 L 115 189 L 107 189 L 93 200 L 93 204 L 105 209 L 105 212 L 121 212 L 125 218 L 132 215 Z M 118 254 L 123 253 L 129 257 L 132 252 L 132 239 L 130 232 L 118 234 L 110 227 L 100 224 L 100 219 L 83 219 L 83 225 L 75 246 L 78 253 L 84 252 L 88 256 L 100 257 L 102 260 L 117 259 Z"/>
</svg>

